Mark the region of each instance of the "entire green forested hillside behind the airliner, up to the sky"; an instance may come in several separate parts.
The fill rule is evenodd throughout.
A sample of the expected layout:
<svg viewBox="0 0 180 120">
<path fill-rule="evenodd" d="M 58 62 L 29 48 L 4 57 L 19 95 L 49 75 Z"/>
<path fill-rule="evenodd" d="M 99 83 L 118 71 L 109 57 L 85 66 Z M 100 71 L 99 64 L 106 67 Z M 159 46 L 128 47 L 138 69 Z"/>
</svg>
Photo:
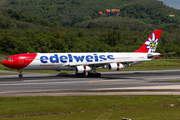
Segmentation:
<svg viewBox="0 0 180 120">
<path fill-rule="evenodd" d="M 162 29 L 157 52 L 180 56 L 179 11 L 157 0 L 0 0 L 0 7 L 0 54 L 132 52 Z M 107 8 L 121 16 L 98 18 Z"/>
</svg>

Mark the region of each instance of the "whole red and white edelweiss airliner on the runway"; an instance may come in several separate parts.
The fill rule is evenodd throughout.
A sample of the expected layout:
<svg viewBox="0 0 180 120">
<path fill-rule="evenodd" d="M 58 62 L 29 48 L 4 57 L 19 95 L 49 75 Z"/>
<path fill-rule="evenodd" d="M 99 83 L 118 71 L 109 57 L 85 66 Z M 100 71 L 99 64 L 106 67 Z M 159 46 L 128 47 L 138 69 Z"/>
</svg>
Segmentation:
<svg viewBox="0 0 180 120">
<path fill-rule="evenodd" d="M 152 60 L 162 30 L 155 30 L 146 42 L 135 52 L 106 53 L 24 53 L 8 57 L 2 62 L 6 67 L 19 70 L 75 70 L 77 76 L 98 76 L 97 69 L 120 70 L 144 61 Z"/>
</svg>

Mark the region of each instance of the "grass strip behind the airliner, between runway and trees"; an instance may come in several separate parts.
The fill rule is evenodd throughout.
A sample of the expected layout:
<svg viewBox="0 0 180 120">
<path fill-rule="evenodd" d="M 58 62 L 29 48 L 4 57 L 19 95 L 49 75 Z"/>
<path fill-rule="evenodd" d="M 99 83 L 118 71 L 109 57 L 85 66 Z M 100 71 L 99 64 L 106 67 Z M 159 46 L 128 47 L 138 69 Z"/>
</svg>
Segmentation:
<svg viewBox="0 0 180 120">
<path fill-rule="evenodd" d="M 178 59 L 156 59 L 143 62 L 134 66 L 127 67 L 121 71 L 137 71 L 137 70 L 171 70 L 180 69 L 180 60 Z M 17 71 L 0 64 L 0 70 Z M 98 72 L 112 72 L 108 69 L 100 69 Z M 24 72 L 38 72 L 38 73 L 74 73 L 74 71 L 51 71 L 51 70 L 24 70 Z"/>
</svg>

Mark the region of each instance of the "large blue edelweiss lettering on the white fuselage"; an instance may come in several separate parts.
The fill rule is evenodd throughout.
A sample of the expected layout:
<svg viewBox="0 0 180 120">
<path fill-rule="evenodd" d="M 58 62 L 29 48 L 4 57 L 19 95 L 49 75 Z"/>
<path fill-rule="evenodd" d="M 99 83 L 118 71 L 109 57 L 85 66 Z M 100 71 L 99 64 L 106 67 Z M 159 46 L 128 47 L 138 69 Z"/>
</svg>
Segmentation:
<svg viewBox="0 0 180 120">
<path fill-rule="evenodd" d="M 67 62 L 83 62 L 86 60 L 87 62 L 98 62 L 98 61 L 105 61 L 105 60 L 114 60 L 113 55 L 72 55 L 72 54 L 66 54 L 58 56 L 58 54 L 54 54 L 53 56 L 41 56 L 40 61 L 41 63 L 67 63 Z"/>
</svg>

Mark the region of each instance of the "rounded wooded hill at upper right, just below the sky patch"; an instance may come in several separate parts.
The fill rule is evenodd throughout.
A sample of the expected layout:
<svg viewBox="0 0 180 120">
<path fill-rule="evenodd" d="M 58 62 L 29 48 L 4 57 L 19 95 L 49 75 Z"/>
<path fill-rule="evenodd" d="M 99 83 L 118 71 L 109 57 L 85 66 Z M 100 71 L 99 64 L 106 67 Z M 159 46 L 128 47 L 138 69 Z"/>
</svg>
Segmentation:
<svg viewBox="0 0 180 120">
<path fill-rule="evenodd" d="M 142 20 L 150 24 L 180 24 L 180 10 L 170 8 L 156 0 L 136 0 L 121 8 L 122 17 Z"/>
</svg>

